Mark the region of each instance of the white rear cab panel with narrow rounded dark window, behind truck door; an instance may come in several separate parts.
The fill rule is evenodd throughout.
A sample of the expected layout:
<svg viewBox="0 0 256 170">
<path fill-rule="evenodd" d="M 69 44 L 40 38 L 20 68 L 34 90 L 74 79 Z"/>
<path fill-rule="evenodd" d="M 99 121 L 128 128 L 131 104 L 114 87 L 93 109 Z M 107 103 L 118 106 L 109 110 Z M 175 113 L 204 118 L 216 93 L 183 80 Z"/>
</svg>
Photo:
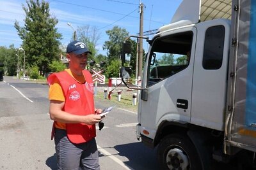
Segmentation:
<svg viewBox="0 0 256 170">
<path fill-rule="evenodd" d="M 230 21 L 196 24 L 198 32 L 194 62 L 191 124 L 224 130 L 227 99 Z"/>
</svg>

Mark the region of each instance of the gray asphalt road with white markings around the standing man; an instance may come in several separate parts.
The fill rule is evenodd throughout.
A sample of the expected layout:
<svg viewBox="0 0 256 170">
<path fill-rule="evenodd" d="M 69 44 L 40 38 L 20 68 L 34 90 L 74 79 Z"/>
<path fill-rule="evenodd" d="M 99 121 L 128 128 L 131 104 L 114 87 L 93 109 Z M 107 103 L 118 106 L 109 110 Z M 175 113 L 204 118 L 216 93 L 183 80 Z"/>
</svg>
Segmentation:
<svg viewBox="0 0 256 170">
<path fill-rule="evenodd" d="M 48 85 L 4 77 L 0 81 L 0 169 L 56 169 Z M 95 98 L 97 108 L 113 103 Z M 137 113 L 116 106 L 97 129 L 100 167 L 159 169 L 156 151 L 136 139 Z"/>
</svg>

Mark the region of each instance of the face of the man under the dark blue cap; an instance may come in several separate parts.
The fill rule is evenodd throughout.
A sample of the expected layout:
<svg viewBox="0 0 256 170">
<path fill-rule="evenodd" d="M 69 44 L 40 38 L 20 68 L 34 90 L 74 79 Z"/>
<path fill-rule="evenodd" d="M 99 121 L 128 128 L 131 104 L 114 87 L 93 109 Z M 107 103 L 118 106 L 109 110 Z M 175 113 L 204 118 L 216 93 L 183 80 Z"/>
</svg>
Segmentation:
<svg viewBox="0 0 256 170">
<path fill-rule="evenodd" d="M 76 70 L 83 70 L 87 65 L 88 53 L 82 53 L 76 55 L 75 53 L 68 53 L 67 59 L 69 59 L 69 67 Z"/>
</svg>

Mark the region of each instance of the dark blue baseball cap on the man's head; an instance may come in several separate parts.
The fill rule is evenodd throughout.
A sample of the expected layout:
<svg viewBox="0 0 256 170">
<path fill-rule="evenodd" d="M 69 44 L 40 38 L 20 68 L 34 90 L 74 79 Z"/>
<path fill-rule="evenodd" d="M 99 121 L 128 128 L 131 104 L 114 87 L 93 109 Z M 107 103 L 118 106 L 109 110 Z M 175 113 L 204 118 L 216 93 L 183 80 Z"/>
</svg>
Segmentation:
<svg viewBox="0 0 256 170">
<path fill-rule="evenodd" d="M 86 46 L 85 46 L 85 44 L 83 42 L 77 41 L 77 40 L 76 41 L 72 41 L 71 43 L 68 44 L 68 46 L 67 46 L 67 53 L 70 53 L 70 52 L 73 52 L 76 55 L 80 55 L 80 54 L 86 53 L 86 52 L 92 54 L 92 52 L 90 52 L 86 48 Z"/>
</svg>

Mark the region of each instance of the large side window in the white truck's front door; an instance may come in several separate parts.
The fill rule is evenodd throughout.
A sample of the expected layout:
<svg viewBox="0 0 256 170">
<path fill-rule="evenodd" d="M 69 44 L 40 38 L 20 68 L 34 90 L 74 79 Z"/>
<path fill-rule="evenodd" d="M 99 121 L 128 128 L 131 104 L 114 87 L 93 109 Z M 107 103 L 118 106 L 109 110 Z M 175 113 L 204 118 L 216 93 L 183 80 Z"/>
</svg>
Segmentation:
<svg viewBox="0 0 256 170">
<path fill-rule="evenodd" d="M 148 62 L 148 86 L 188 67 L 193 32 L 156 38 Z"/>
</svg>

